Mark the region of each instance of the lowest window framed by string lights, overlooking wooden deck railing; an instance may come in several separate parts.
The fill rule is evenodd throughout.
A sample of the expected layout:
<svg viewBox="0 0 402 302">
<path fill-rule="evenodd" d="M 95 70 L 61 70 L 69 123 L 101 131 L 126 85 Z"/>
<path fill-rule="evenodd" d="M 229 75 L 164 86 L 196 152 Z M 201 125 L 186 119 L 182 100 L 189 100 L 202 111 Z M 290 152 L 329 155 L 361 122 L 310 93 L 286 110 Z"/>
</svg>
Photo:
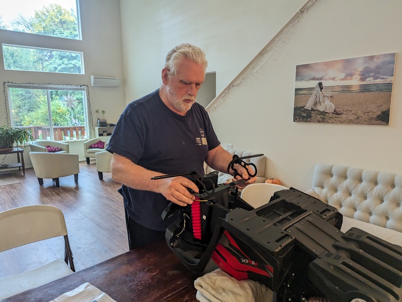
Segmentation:
<svg viewBox="0 0 402 302">
<path fill-rule="evenodd" d="M 36 139 L 87 138 L 86 88 L 6 84 L 11 125 L 32 129 Z"/>
</svg>

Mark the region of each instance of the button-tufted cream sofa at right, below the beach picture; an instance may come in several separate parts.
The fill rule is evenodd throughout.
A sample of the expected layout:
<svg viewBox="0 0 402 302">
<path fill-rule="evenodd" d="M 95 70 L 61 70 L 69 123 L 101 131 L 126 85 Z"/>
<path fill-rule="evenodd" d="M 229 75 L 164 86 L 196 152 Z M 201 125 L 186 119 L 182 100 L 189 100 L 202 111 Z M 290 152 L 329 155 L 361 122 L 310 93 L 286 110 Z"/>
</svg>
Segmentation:
<svg viewBox="0 0 402 302">
<path fill-rule="evenodd" d="M 341 231 L 357 227 L 402 246 L 402 175 L 318 164 L 306 193 L 338 209 Z"/>
</svg>

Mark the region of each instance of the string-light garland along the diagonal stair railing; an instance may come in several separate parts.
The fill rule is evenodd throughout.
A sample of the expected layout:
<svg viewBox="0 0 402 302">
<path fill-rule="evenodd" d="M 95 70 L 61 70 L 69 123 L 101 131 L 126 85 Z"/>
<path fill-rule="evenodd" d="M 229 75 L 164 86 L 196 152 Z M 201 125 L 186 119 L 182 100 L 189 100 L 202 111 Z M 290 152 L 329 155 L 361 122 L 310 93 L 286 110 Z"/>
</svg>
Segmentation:
<svg viewBox="0 0 402 302">
<path fill-rule="evenodd" d="M 226 86 L 221 93 L 207 106 L 208 112 L 215 111 L 222 103 L 225 96 L 228 94 L 230 89 L 236 86 L 240 86 L 242 83 L 249 81 L 268 61 L 273 57 L 275 52 L 279 49 L 282 43 L 287 38 L 293 25 L 306 13 L 307 10 L 316 2 L 317 0 L 309 0 L 305 5 L 297 11 L 297 13 L 289 20 L 289 22 L 282 27 L 282 29 L 268 42 L 268 44 L 254 57 L 254 59 Z M 264 59 L 267 53 L 270 53 Z"/>
</svg>

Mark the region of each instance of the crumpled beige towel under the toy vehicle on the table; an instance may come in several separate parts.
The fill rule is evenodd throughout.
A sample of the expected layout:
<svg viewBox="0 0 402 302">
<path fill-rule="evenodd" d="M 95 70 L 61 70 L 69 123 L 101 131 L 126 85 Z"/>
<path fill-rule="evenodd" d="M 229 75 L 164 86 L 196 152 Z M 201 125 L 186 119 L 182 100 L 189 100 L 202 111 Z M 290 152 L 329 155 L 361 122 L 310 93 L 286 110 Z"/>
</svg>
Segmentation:
<svg viewBox="0 0 402 302">
<path fill-rule="evenodd" d="M 236 280 L 218 268 L 194 281 L 201 302 L 271 302 L 272 290 L 253 280 Z"/>
</svg>

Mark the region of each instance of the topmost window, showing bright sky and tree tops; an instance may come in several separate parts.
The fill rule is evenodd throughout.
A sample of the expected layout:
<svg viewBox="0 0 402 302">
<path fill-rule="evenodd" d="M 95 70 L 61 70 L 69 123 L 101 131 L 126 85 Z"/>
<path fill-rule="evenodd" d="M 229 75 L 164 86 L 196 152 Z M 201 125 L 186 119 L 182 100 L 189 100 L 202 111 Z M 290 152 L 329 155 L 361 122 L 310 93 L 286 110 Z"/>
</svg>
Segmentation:
<svg viewBox="0 0 402 302">
<path fill-rule="evenodd" d="M 78 0 L 13 0 L 1 5 L 0 29 L 81 39 Z"/>
</svg>

